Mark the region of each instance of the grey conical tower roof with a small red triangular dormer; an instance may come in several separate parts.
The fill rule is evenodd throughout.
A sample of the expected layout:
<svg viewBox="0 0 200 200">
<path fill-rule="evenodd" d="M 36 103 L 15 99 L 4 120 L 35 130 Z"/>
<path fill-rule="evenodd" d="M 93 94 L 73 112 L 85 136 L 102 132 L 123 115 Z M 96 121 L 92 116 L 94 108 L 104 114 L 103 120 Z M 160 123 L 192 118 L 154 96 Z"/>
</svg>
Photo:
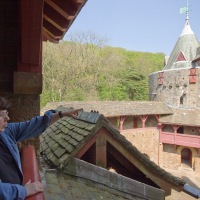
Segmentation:
<svg viewBox="0 0 200 200">
<path fill-rule="evenodd" d="M 163 70 L 191 68 L 191 62 L 199 46 L 200 43 L 190 27 L 189 18 L 187 16 L 183 31 Z"/>
</svg>

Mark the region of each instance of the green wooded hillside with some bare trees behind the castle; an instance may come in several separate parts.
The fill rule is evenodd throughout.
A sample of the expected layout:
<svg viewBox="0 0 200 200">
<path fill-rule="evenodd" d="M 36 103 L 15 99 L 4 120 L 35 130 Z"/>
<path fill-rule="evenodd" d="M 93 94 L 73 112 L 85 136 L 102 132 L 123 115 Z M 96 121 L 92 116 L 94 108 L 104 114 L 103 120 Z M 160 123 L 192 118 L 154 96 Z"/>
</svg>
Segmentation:
<svg viewBox="0 0 200 200">
<path fill-rule="evenodd" d="M 41 106 L 68 100 L 148 100 L 148 76 L 163 69 L 164 56 L 109 47 L 95 35 L 45 42 Z"/>
</svg>

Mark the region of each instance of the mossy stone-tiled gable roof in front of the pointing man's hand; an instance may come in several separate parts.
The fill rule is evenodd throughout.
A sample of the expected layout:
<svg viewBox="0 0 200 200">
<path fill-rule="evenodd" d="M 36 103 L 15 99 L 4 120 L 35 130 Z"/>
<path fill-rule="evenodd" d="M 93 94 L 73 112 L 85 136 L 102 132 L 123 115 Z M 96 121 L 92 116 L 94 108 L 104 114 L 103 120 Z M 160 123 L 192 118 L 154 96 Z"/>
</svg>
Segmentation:
<svg viewBox="0 0 200 200">
<path fill-rule="evenodd" d="M 105 127 L 124 148 L 131 152 L 152 173 L 177 186 L 185 184 L 182 179 L 172 176 L 150 161 L 118 130 L 114 129 L 103 115 L 99 115 L 95 123 L 67 117 L 58 120 L 40 136 L 41 153 L 46 161 L 62 170 L 69 159 L 74 157 L 101 127 Z"/>
</svg>

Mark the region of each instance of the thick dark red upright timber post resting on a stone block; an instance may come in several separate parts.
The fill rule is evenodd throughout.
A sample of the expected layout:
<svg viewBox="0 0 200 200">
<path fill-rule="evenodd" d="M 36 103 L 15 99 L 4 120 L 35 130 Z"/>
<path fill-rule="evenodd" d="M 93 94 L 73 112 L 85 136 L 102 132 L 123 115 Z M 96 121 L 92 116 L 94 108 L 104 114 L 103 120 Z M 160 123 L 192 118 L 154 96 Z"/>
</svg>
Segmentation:
<svg viewBox="0 0 200 200">
<path fill-rule="evenodd" d="M 25 63 L 41 72 L 43 0 L 21 0 L 20 6 L 21 52 L 17 71 L 21 71 L 20 65 Z"/>
</svg>

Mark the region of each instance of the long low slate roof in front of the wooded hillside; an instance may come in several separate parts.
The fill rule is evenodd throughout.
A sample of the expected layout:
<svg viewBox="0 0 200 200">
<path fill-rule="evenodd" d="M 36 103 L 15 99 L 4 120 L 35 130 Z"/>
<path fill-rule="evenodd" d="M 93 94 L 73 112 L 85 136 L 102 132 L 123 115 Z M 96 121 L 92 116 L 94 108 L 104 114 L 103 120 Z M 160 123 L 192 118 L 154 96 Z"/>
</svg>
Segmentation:
<svg viewBox="0 0 200 200">
<path fill-rule="evenodd" d="M 117 116 L 172 114 L 170 108 L 163 102 L 155 101 L 66 101 L 48 103 L 41 111 L 59 107 L 83 108 L 85 111 L 99 111 L 107 118 Z"/>
</svg>

